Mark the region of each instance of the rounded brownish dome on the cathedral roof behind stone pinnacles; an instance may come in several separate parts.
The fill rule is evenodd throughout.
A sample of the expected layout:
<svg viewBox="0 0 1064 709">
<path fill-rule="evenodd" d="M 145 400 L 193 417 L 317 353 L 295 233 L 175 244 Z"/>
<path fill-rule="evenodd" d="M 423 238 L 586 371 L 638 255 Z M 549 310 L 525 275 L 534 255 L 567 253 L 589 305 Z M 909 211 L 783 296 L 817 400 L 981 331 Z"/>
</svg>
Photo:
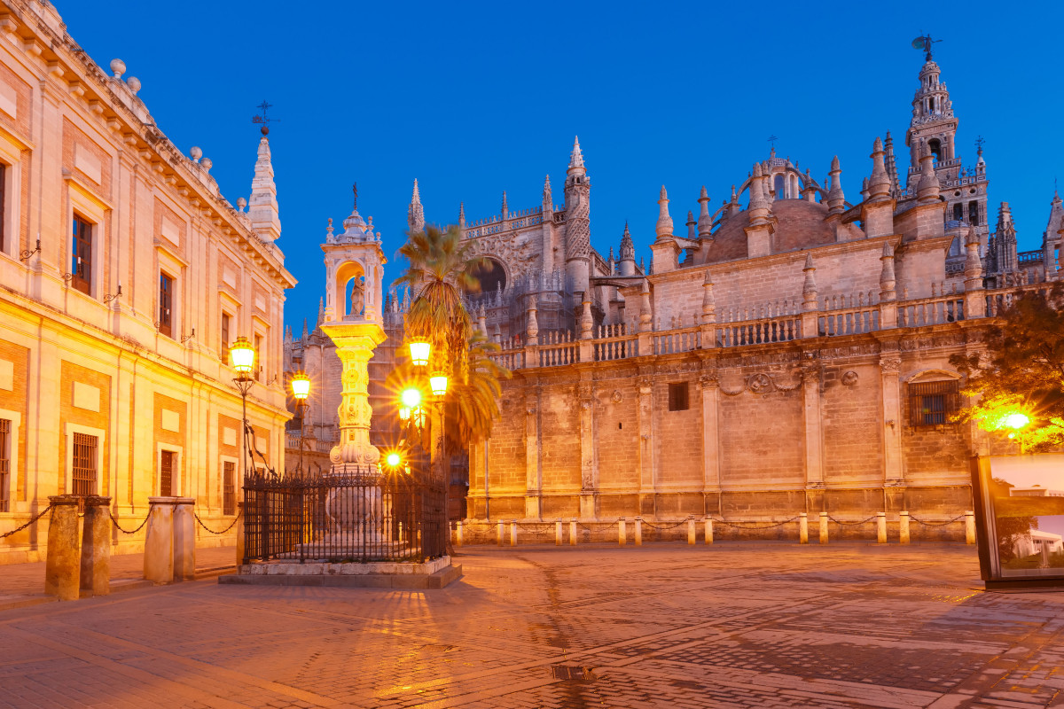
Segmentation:
<svg viewBox="0 0 1064 709">
<path fill-rule="evenodd" d="M 778 200 L 772 203 L 776 217 L 772 234 L 772 253 L 784 253 L 809 249 L 825 243 L 834 243 L 835 226 L 825 221 L 828 205 L 807 200 Z M 747 257 L 746 227 L 750 223 L 750 213 L 744 209 L 725 223 L 713 235 L 706 263 L 716 264 Z M 855 224 L 839 224 L 838 229 L 848 235 L 842 240 L 864 238 L 864 233 Z"/>
</svg>

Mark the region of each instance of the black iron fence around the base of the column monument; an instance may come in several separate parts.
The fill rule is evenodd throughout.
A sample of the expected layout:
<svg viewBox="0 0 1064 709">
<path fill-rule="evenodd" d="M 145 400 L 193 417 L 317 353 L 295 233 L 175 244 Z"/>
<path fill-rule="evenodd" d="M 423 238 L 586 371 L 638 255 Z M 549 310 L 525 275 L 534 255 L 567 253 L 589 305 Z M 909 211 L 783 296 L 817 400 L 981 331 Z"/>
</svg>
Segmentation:
<svg viewBox="0 0 1064 709">
<path fill-rule="evenodd" d="M 444 487 L 416 469 L 244 480 L 244 562 L 425 561 L 446 553 Z"/>
</svg>

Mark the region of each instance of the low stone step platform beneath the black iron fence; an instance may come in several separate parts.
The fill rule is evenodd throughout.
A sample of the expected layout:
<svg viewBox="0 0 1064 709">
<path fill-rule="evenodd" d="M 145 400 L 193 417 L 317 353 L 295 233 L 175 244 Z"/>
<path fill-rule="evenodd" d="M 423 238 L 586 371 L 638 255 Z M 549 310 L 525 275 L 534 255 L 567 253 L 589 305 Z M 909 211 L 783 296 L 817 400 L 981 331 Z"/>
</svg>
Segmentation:
<svg viewBox="0 0 1064 709">
<path fill-rule="evenodd" d="M 444 556 L 423 563 L 380 561 L 329 563 L 267 561 L 243 563 L 219 584 L 249 586 L 337 586 L 344 588 L 442 589 L 462 577 L 462 565 Z"/>
</svg>

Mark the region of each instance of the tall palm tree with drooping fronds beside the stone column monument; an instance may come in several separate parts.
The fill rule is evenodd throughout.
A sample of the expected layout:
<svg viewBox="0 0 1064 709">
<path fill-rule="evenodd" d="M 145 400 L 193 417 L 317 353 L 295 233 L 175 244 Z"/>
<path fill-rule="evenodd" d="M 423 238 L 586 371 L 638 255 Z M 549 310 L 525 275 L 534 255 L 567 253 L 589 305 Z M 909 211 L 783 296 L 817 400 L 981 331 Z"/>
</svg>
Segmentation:
<svg viewBox="0 0 1064 709">
<path fill-rule="evenodd" d="M 398 285 L 409 285 L 414 301 L 406 313 L 405 334 L 428 338 L 432 343 L 430 372 L 443 370 L 448 375 L 444 405 L 445 432 L 439 459 L 447 461 L 448 446 L 462 450 L 491 436 L 499 416 L 500 378 L 510 377 L 510 370 L 491 358 L 499 345 L 488 341 L 486 334 L 477 332 L 462 302 L 462 291 L 477 292 L 480 282 L 472 270 L 481 258 L 470 253 L 470 243 L 462 238 L 458 226 L 440 230 L 426 226 L 423 232 L 409 234 L 399 254 L 410 266 Z M 389 375 L 386 386 L 399 391 L 411 384 L 422 391 L 425 374 L 403 362 Z M 449 471 L 443 471 L 445 509 L 449 516 Z M 448 528 L 450 524 L 448 522 Z M 447 535 L 450 550 L 450 534 Z"/>
</svg>

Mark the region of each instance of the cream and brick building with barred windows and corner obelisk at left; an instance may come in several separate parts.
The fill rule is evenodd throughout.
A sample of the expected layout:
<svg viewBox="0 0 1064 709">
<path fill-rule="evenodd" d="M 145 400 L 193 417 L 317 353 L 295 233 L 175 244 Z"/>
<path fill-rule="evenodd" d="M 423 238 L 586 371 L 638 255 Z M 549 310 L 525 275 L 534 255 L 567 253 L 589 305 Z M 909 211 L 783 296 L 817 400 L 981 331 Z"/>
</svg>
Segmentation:
<svg viewBox="0 0 1064 709">
<path fill-rule="evenodd" d="M 50 2 L 0 4 L 0 534 L 62 493 L 110 496 L 126 528 L 154 495 L 195 497 L 206 524 L 228 526 L 242 468 L 228 347 L 239 335 L 259 352 L 253 442 L 270 466 L 283 452 L 295 280 L 276 243 L 269 142 L 250 210 L 244 198 L 233 207 L 211 161 L 160 131 L 123 63 L 111 70 Z M 116 552 L 143 546 L 144 531 L 113 534 Z M 46 541 L 45 519 L 0 540 L 0 563 L 40 558 Z"/>
</svg>

